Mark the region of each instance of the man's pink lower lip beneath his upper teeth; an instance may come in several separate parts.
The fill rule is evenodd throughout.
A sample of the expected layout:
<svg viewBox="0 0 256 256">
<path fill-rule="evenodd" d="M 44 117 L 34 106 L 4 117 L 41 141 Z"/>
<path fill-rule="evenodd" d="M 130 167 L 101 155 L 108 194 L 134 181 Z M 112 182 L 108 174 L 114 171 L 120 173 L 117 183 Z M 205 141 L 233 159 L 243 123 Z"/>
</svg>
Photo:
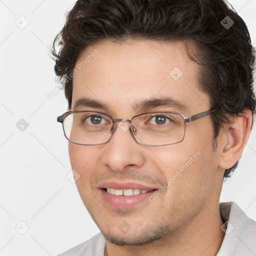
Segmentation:
<svg viewBox="0 0 256 256">
<path fill-rule="evenodd" d="M 114 208 L 130 209 L 133 206 L 139 204 L 142 201 L 148 200 L 156 190 L 152 190 L 147 193 L 135 194 L 135 195 L 114 195 L 107 193 L 104 189 L 100 189 L 101 194 L 105 201 Z"/>
</svg>

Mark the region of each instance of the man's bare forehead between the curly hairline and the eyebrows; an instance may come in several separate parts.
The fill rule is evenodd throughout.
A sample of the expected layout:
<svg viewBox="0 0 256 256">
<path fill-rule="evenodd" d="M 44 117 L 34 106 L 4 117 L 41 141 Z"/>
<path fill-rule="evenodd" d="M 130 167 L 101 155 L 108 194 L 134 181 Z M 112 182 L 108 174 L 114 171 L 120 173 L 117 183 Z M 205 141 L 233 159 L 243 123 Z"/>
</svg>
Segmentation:
<svg viewBox="0 0 256 256">
<path fill-rule="evenodd" d="M 75 64 L 72 107 L 86 97 L 125 110 L 142 100 L 167 96 L 190 107 L 209 108 L 209 97 L 198 84 L 198 68 L 182 41 L 104 41 L 86 46 Z"/>
</svg>

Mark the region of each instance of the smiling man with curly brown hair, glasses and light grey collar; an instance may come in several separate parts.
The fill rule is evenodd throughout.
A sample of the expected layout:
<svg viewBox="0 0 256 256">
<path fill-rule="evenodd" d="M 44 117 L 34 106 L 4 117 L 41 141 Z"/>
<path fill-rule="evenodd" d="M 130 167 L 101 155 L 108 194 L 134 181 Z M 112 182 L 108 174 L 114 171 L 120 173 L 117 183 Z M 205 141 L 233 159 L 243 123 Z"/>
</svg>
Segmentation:
<svg viewBox="0 0 256 256">
<path fill-rule="evenodd" d="M 219 203 L 255 112 L 254 51 L 223 0 L 79 0 L 55 38 L 58 117 L 100 233 L 67 255 L 256 255 Z"/>
</svg>

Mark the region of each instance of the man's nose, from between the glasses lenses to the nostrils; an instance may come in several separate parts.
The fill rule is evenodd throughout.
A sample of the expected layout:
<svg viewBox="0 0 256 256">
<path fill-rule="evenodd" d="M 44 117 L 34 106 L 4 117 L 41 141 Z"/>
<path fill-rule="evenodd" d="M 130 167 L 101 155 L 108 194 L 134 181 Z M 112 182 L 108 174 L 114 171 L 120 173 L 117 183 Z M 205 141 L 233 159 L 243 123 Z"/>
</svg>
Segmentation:
<svg viewBox="0 0 256 256">
<path fill-rule="evenodd" d="M 131 127 L 132 128 L 132 127 Z M 130 132 L 127 120 L 115 122 L 114 133 L 104 146 L 102 160 L 114 171 L 124 171 L 127 166 L 141 167 L 145 162 L 144 146 L 138 144 Z"/>
</svg>

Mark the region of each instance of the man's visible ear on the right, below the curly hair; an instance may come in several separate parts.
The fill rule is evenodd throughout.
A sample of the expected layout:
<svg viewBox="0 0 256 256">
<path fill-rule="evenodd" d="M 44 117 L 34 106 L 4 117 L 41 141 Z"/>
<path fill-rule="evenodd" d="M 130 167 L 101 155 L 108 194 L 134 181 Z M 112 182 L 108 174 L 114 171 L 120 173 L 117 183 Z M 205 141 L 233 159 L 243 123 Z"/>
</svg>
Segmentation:
<svg viewBox="0 0 256 256">
<path fill-rule="evenodd" d="M 219 145 L 221 146 L 218 162 L 220 168 L 231 168 L 237 162 L 249 138 L 251 123 L 251 111 L 246 109 L 223 129 Z"/>
</svg>

